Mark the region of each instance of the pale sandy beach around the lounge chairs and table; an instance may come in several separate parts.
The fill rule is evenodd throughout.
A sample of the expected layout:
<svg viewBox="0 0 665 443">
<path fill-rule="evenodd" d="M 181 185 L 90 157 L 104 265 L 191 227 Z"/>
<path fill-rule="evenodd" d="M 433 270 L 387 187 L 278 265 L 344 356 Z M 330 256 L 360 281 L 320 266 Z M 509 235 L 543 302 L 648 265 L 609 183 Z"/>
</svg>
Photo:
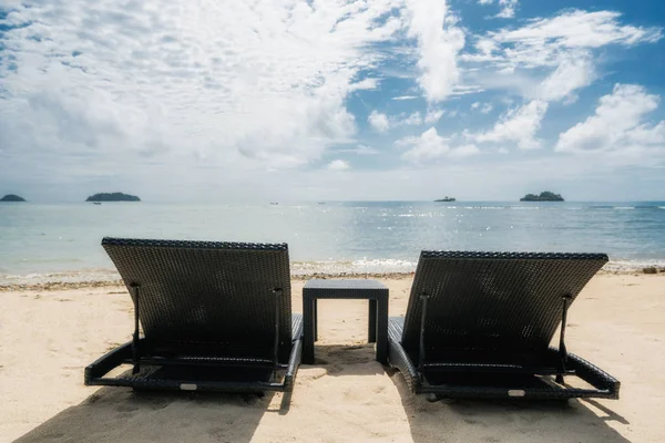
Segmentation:
<svg viewBox="0 0 665 443">
<path fill-rule="evenodd" d="M 382 279 L 403 315 L 411 277 Z M 301 311 L 304 281 L 294 287 Z M 665 275 L 600 275 L 573 305 L 569 350 L 622 382 L 618 401 L 440 401 L 374 361 L 366 302 L 320 301 L 317 363 L 291 395 L 134 393 L 83 385 L 83 368 L 130 339 L 120 286 L 0 291 L 0 441 L 655 442 L 665 435 Z"/>
</svg>

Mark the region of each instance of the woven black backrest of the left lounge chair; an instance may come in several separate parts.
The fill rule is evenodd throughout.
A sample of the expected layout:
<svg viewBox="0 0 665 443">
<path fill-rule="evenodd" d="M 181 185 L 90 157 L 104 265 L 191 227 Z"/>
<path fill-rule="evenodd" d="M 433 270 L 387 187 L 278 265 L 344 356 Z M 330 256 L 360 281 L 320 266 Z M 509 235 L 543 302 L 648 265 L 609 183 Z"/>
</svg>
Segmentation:
<svg viewBox="0 0 665 443">
<path fill-rule="evenodd" d="M 139 286 L 147 343 L 206 344 L 272 358 L 278 309 L 280 360 L 288 356 L 291 301 L 286 244 L 106 237 L 102 245 L 130 293 L 133 285 Z"/>
</svg>

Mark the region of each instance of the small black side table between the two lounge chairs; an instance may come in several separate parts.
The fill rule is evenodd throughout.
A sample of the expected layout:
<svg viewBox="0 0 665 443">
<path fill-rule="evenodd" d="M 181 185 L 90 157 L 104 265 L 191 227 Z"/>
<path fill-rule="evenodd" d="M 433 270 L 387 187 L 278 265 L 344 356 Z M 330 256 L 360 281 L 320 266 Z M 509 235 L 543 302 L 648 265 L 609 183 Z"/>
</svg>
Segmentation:
<svg viewBox="0 0 665 443">
<path fill-rule="evenodd" d="M 314 364 L 318 299 L 369 300 L 368 341 L 377 343 L 377 361 L 388 364 L 388 288 L 377 280 L 308 280 L 303 288 L 305 337 L 303 364 Z"/>
</svg>

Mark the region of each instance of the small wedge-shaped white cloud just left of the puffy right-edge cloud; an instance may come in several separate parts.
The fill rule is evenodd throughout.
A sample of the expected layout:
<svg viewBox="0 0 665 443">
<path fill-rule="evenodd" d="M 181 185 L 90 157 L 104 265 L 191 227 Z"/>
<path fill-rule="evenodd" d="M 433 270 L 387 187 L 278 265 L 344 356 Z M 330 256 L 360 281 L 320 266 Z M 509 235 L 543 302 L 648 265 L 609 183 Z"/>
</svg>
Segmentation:
<svg viewBox="0 0 665 443">
<path fill-rule="evenodd" d="M 494 127 L 473 137 L 478 142 L 514 142 L 520 150 L 540 147 L 535 134 L 548 111 L 548 103 L 533 100 L 525 105 L 512 109 L 501 116 Z"/>
</svg>

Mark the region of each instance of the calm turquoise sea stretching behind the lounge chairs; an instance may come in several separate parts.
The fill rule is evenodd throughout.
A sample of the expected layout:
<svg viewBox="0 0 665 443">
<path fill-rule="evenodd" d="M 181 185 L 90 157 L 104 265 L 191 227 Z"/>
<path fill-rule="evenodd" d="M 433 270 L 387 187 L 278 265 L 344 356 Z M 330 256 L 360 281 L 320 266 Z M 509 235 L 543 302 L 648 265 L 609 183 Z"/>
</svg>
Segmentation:
<svg viewBox="0 0 665 443">
<path fill-rule="evenodd" d="M 410 271 L 422 249 L 600 251 L 665 264 L 665 202 L 1 204 L 0 285 L 114 276 L 104 236 L 288 243 L 294 274 Z"/>
</svg>

